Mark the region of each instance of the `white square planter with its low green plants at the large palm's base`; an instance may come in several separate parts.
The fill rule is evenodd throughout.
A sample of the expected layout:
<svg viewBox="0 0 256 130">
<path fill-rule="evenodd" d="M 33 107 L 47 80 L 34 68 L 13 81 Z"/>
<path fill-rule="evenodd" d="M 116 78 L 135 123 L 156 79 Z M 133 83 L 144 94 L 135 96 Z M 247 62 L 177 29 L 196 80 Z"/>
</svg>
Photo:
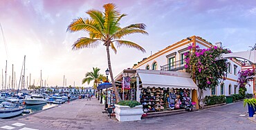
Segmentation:
<svg viewBox="0 0 256 130">
<path fill-rule="evenodd" d="M 122 100 L 115 105 L 116 119 L 120 122 L 140 120 L 143 105 L 136 100 Z"/>
</svg>

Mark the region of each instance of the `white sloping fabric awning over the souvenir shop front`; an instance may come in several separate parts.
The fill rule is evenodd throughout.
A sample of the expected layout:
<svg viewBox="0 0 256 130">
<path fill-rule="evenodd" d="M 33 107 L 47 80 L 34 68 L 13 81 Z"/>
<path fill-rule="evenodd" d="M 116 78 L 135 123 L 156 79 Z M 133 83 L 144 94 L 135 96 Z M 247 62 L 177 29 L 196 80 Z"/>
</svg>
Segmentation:
<svg viewBox="0 0 256 130">
<path fill-rule="evenodd" d="M 198 89 L 192 78 L 165 76 L 161 74 L 138 73 L 143 87 L 161 87 L 174 89 Z"/>
</svg>

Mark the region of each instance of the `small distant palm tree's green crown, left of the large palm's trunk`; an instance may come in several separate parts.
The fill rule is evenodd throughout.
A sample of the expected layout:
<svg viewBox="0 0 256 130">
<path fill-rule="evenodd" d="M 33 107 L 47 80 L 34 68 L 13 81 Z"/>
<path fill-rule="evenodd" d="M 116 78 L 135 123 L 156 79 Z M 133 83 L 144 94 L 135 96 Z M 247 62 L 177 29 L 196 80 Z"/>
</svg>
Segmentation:
<svg viewBox="0 0 256 130">
<path fill-rule="evenodd" d="M 93 88 L 96 89 L 100 80 L 106 80 L 106 77 L 103 74 L 100 74 L 100 69 L 98 67 L 93 67 L 93 72 L 87 72 L 85 78 L 82 79 L 82 84 L 91 83 L 93 80 Z"/>
</svg>

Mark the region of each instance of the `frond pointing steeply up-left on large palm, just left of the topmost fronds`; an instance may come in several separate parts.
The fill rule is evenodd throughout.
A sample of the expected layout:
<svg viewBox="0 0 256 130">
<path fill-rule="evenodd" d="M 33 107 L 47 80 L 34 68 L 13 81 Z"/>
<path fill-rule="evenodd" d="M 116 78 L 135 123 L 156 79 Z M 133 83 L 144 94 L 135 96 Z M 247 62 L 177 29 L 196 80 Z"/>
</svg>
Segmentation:
<svg viewBox="0 0 256 130">
<path fill-rule="evenodd" d="M 104 17 L 102 12 L 98 10 L 88 10 L 86 13 L 90 15 L 91 19 L 100 24 L 101 30 L 104 32 Z"/>
</svg>

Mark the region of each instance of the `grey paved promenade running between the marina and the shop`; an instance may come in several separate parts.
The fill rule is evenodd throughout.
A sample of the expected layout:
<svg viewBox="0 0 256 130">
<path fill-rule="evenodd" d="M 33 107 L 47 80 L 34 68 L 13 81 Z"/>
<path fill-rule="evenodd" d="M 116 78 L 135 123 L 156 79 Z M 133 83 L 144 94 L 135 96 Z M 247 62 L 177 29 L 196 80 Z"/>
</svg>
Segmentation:
<svg viewBox="0 0 256 130">
<path fill-rule="evenodd" d="M 256 129 L 243 102 L 134 122 L 110 119 L 103 108 L 96 99 L 74 100 L 28 116 L 0 119 L 0 129 Z"/>
</svg>

